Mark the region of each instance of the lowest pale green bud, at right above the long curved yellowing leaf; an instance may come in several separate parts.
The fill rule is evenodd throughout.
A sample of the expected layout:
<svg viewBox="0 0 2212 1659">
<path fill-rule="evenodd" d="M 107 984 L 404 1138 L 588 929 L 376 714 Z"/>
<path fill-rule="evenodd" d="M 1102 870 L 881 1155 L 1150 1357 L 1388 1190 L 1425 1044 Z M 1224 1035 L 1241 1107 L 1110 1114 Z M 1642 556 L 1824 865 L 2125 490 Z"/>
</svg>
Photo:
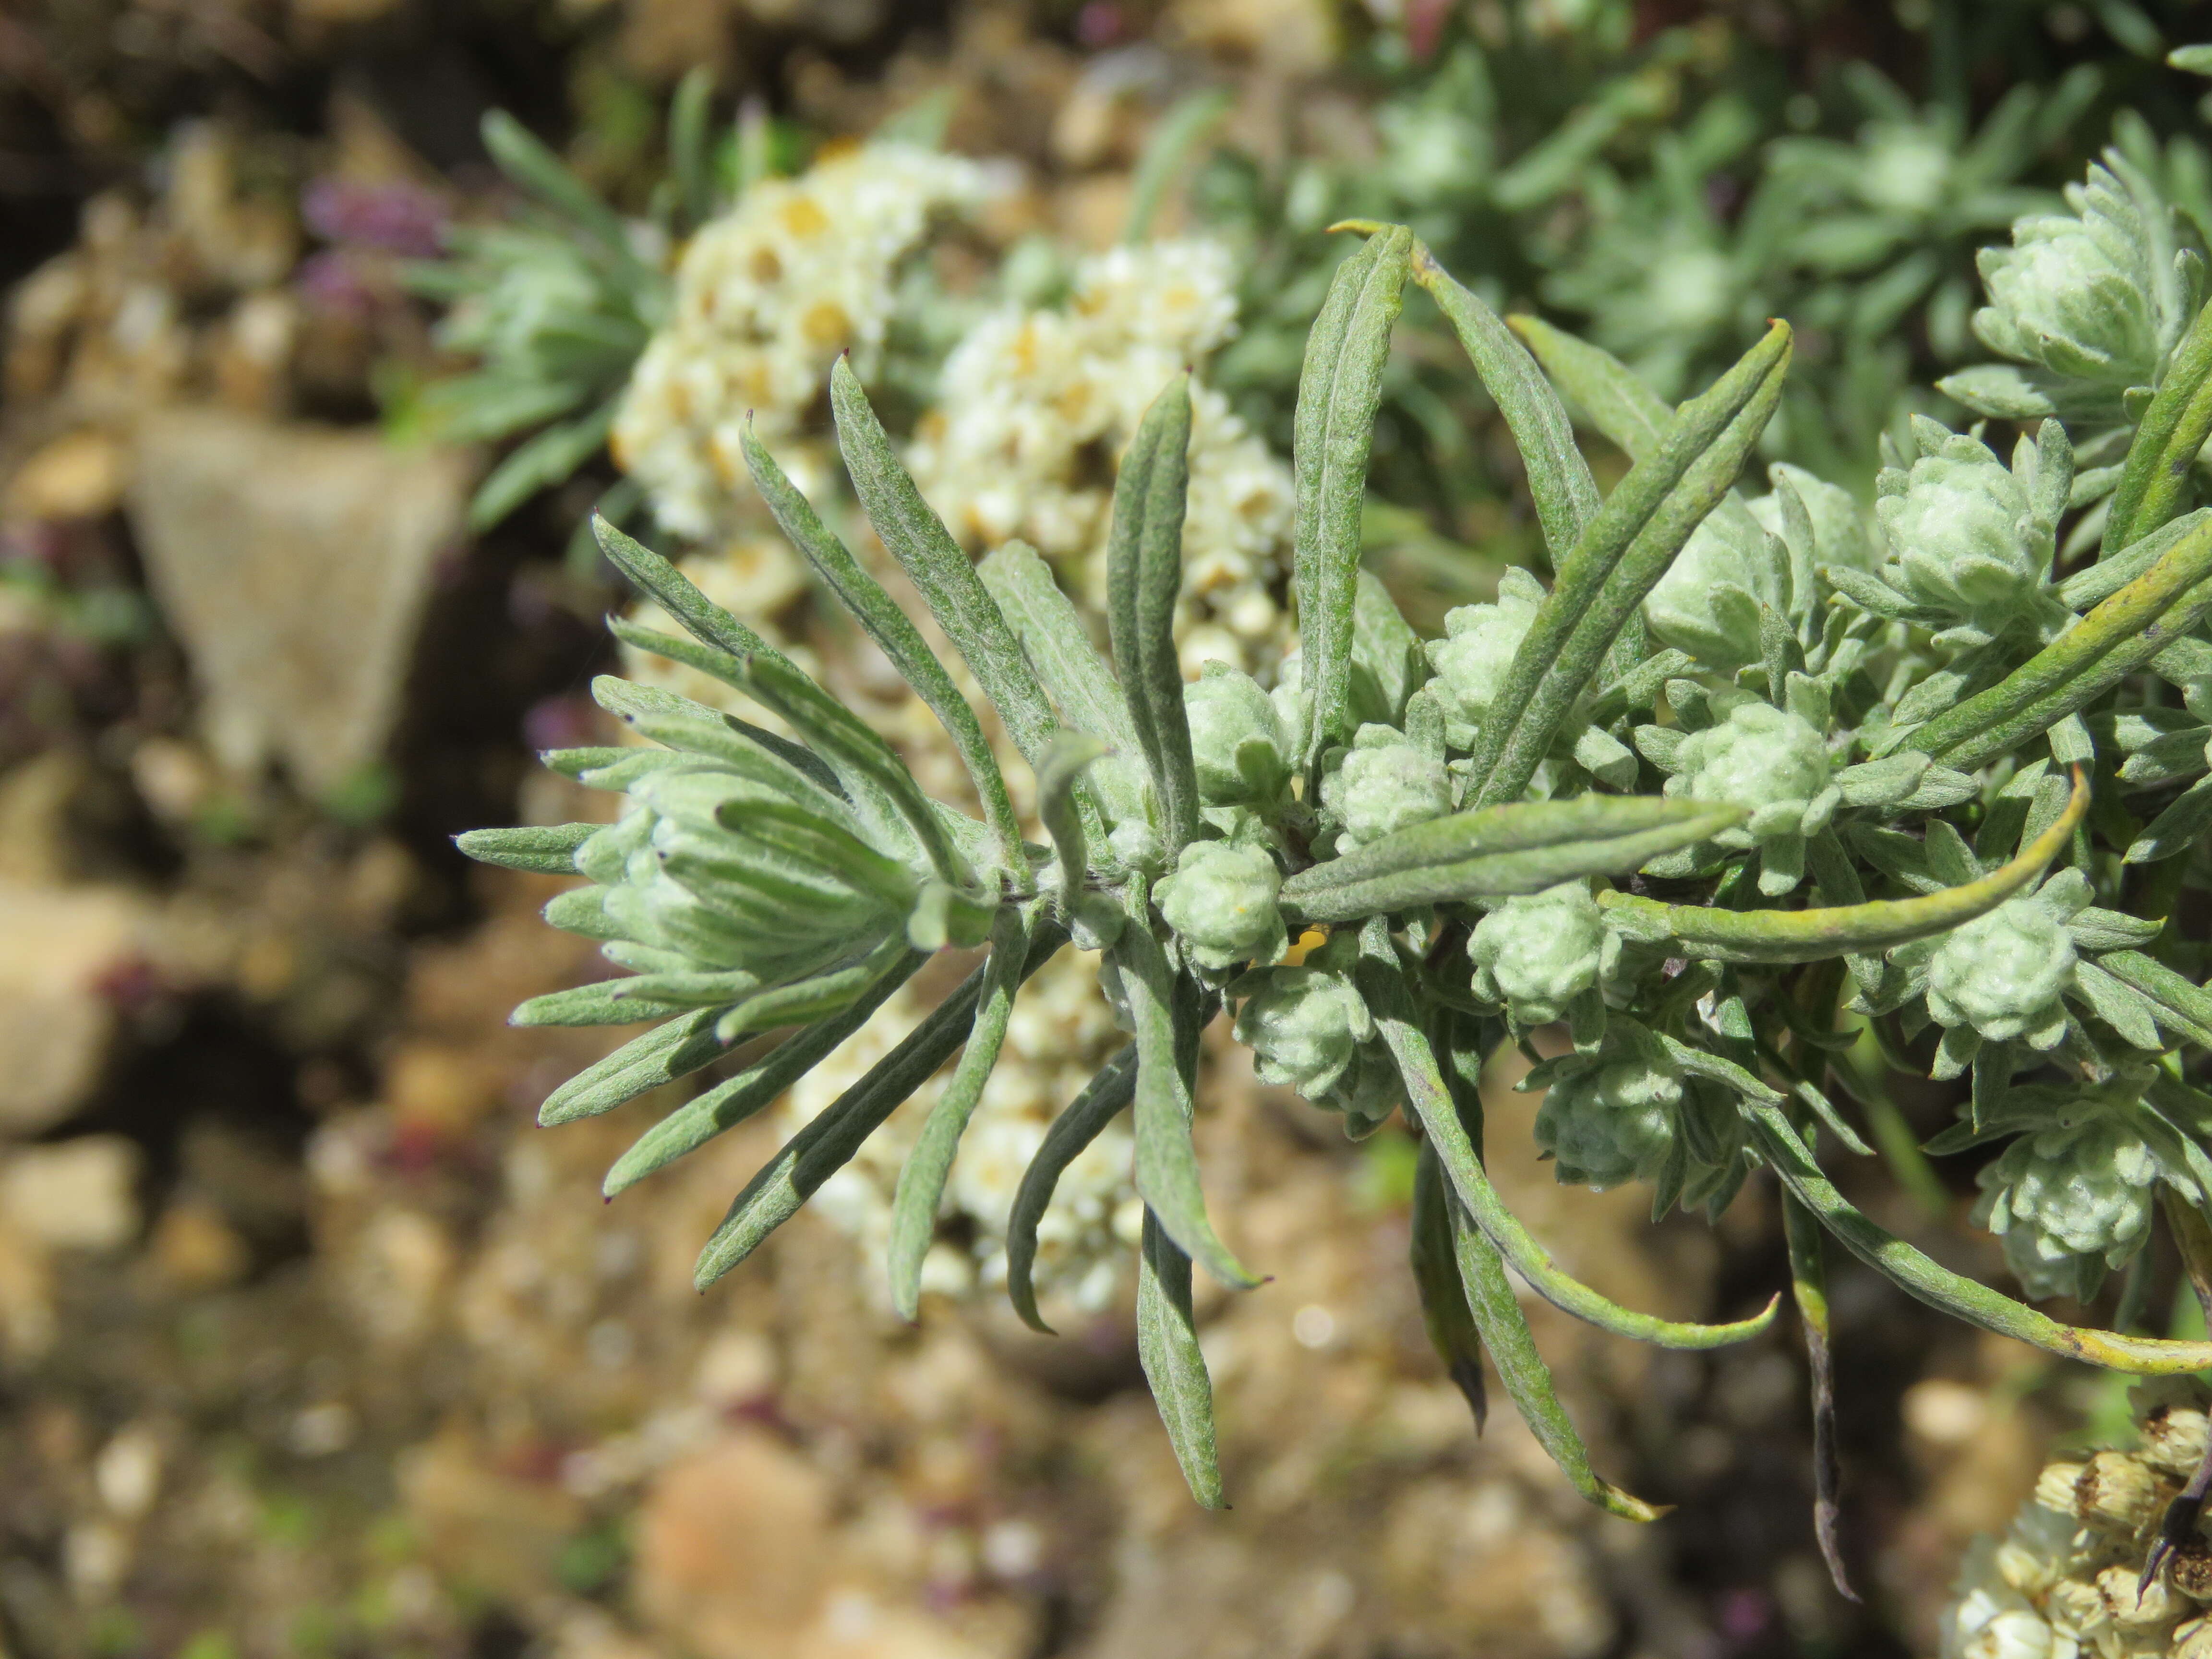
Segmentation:
<svg viewBox="0 0 2212 1659">
<path fill-rule="evenodd" d="M 2022 1135 L 1975 1179 L 1975 1223 L 2004 1239 L 2031 1298 L 2097 1294 L 2150 1232 L 2159 1161 L 2126 1110 L 2097 1106 Z"/>
</svg>

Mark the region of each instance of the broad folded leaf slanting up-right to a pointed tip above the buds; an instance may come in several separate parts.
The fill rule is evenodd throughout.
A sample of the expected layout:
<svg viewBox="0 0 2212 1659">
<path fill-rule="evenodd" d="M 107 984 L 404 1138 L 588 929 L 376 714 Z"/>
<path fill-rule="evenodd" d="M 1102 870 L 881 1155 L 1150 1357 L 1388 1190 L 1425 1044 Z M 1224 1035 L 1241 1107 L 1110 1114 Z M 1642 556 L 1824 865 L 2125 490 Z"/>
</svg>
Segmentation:
<svg viewBox="0 0 2212 1659">
<path fill-rule="evenodd" d="M 1551 752 L 1615 635 L 1641 613 L 1690 533 L 1728 498 L 1790 369 L 1790 325 L 1767 336 L 1710 392 L 1674 411 L 1666 438 L 1628 469 L 1537 608 L 1513 653 L 1491 717 L 1475 732 L 1473 805 L 1517 799 Z"/>
</svg>

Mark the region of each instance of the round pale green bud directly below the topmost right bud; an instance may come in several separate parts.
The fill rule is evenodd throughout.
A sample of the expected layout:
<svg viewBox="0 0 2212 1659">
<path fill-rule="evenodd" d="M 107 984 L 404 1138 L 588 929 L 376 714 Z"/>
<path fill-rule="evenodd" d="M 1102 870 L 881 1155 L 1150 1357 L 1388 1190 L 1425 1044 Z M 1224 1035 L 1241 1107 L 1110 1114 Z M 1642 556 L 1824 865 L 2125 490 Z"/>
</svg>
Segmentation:
<svg viewBox="0 0 2212 1659">
<path fill-rule="evenodd" d="M 2002 622 L 2051 568 L 2051 531 L 2024 482 L 1973 438 L 1949 436 L 1911 471 L 1882 471 L 1874 515 L 1896 555 L 1885 580 L 1931 611 Z"/>
</svg>

